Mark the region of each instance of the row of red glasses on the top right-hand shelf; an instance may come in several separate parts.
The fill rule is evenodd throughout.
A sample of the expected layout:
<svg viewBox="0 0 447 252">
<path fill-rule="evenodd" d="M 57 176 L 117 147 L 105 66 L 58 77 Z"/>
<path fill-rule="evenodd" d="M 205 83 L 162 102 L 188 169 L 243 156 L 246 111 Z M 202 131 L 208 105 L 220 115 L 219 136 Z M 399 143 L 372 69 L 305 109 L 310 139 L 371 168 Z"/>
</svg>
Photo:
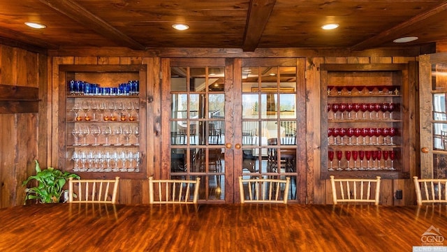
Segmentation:
<svg viewBox="0 0 447 252">
<path fill-rule="evenodd" d="M 328 95 L 330 96 L 332 93 L 332 90 L 335 89 L 337 91 L 338 95 L 342 95 L 345 91 L 347 94 L 351 95 L 353 94 L 353 90 L 356 89 L 355 94 L 359 95 L 371 95 L 371 94 L 394 94 L 399 95 L 400 94 L 400 86 L 398 85 L 357 85 L 357 86 L 332 86 L 328 85 Z M 367 92 L 365 91 L 367 90 Z"/>
</svg>

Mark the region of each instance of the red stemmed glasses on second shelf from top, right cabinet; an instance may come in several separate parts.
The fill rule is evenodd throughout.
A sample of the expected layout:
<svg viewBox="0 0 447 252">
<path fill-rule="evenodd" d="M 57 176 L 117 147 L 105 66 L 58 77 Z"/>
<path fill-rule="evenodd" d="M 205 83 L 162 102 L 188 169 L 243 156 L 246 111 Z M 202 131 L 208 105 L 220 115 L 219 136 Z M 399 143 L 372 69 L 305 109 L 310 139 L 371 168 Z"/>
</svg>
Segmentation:
<svg viewBox="0 0 447 252">
<path fill-rule="evenodd" d="M 328 103 L 326 109 L 328 112 L 332 111 L 333 120 L 343 120 L 343 119 L 359 119 L 358 112 L 362 112 L 361 119 L 386 119 L 386 113 L 390 119 L 393 119 L 393 111 L 396 108 L 395 103 Z M 339 113 L 338 113 L 339 112 Z M 344 116 L 346 112 L 346 117 Z M 355 115 L 351 117 L 351 112 L 355 112 Z M 366 112 L 369 112 L 369 117 L 366 116 Z M 372 114 L 375 112 L 375 117 Z M 382 117 L 379 117 L 379 112 L 382 112 Z M 337 117 L 339 114 L 339 117 Z"/>
</svg>

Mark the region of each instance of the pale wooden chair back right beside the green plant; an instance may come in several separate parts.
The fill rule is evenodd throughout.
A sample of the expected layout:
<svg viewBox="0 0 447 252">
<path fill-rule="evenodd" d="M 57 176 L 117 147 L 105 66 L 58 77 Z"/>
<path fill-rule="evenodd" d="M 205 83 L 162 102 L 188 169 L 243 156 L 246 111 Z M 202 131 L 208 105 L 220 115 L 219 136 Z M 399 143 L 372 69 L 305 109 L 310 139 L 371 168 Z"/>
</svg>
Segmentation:
<svg viewBox="0 0 447 252">
<path fill-rule="evenodd" d="M 117 202 L 119 177 L 115 179 L 68 179 L 68 202 Z"/>
</svg>

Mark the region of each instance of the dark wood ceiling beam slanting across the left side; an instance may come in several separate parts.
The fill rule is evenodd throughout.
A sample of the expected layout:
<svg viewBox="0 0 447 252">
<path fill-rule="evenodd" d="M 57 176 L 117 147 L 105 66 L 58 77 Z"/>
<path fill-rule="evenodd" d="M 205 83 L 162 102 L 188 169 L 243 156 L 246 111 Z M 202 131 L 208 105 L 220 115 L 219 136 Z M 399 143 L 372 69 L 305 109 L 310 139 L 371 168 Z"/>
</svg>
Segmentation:
<svg viewBox="0 0 447 252">
<path fill-rule="evenodd" d="M 89 10 L 80 6 L 78 3 L 71 0 L 40 0 L 47 6 L 50 6 L 54 10 L 59 11 L 70 17 L 72 20 L 84 25 L 88 29 L 96 31 L 98 34 L 115 41 L 119 45 L 130 47 L 133 50 L 145 50 L 146 47 L 141 45 L 137 41 L 133 40 L 126 34 L 112 27 L 108 22 L 105 22 L 101 18 L 97 17 Z"/>
</svg>

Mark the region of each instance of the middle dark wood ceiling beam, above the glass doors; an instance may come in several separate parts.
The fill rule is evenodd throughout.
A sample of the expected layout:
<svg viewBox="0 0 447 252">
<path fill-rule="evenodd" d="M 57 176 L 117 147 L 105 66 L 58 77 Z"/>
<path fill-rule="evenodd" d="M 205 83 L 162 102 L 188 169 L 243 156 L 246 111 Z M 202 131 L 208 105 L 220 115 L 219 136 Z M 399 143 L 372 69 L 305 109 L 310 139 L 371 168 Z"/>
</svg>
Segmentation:
<svg viewBox="0 0 447 252">
<path fill-rule="evenodd" d="M 244 31 L 244 44 L 242 45 L 244 52 L 253 52 L 258 47 L 274 3 L 276 0 L 250 0 Z"/>
</svg>

